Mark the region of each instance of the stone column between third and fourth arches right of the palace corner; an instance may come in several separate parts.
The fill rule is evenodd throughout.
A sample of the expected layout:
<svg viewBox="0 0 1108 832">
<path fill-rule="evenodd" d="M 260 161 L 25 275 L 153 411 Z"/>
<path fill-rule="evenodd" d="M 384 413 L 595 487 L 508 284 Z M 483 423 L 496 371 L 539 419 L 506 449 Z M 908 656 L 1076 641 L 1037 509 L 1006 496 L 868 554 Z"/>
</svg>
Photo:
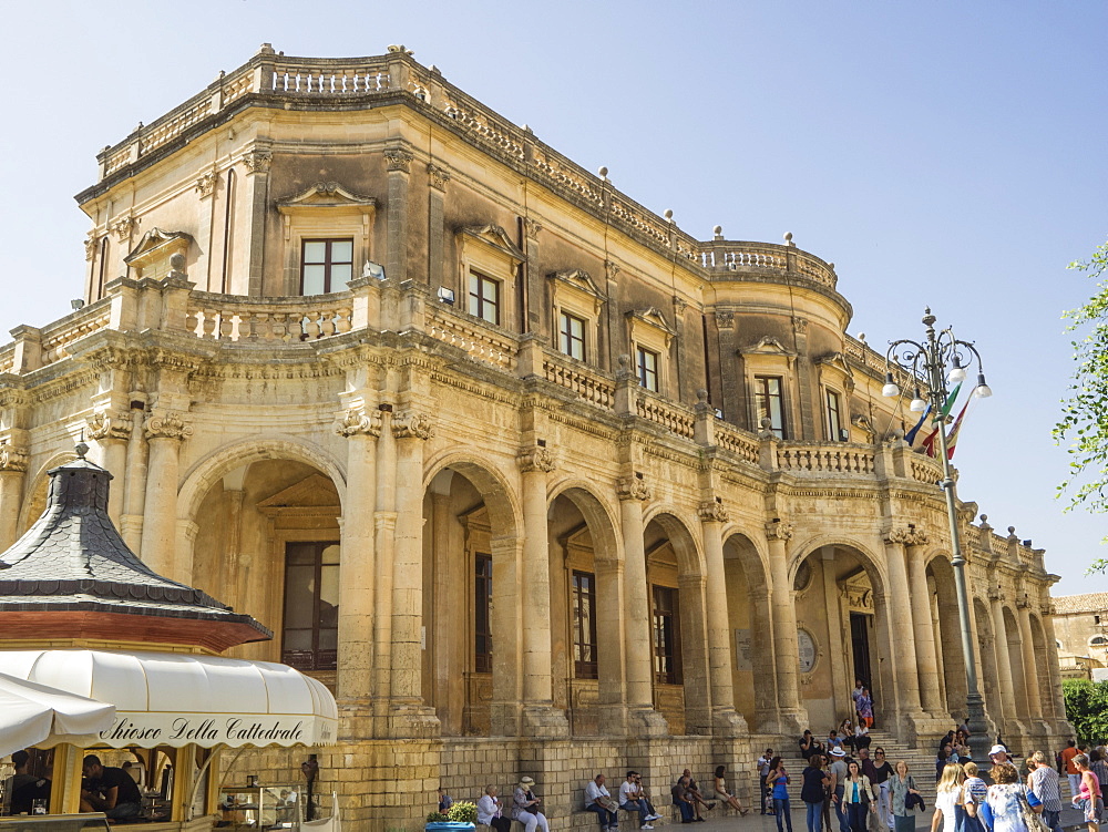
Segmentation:
<svg viewBox="0 0 1108 832">
<path fill-rule="evenodd" d="M 731 643 L 727 620 L 727 576 L 724 572 L 724 523 L 727 511 L 718 500 L 700 504 L 700 531 L 708 583 L 705 587 L 708 625 L 708 674 L 711 682 L 714 728 L 736 721 L 735 691 L 731 688 Z"/>
</svg>

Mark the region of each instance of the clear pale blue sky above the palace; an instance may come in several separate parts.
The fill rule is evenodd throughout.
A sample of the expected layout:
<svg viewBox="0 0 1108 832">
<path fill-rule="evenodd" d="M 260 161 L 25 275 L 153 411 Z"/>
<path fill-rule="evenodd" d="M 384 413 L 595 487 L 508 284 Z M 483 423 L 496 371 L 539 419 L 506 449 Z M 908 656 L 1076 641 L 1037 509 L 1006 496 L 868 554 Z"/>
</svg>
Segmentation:
<svg viewBox="0 0 1108 832">
<path fill-rule="evenodd" d="M 81 294 L 72 199 L 95 153 L 263 41 L 424 64 L 700 239 L 797 244 L 837 264 L 850 332 L 882 348 L 940 321 L 995 396 L 967 422 L 960 495 L 1047 548 L 1056 594 L 1106 554 L 1064 514 L 1050 428 L 1071 372 L 1067 271 L 1108 237 L 1108 6 L 1098 2 L 438 3 L 156 0 L 4 4 L 0 329 Z"/>
</svg>

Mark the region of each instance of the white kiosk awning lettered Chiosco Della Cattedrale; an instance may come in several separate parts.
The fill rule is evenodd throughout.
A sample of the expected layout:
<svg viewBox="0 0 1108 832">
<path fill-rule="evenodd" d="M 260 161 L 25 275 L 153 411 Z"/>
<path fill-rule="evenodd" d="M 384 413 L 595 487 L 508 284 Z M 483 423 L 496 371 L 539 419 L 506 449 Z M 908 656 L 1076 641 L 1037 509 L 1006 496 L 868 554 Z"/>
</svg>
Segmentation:
<svg viewBox="0 0 1108 832">
<path fill-rule="evenodd" d="M 114 705 L 114 721 L 90 744 L 320 746 L 335 742 L 338 728 L 335 697 L 322 682 L 269 661 L 178 653 L 0 650 L 0 674 Z"/>
</svg>

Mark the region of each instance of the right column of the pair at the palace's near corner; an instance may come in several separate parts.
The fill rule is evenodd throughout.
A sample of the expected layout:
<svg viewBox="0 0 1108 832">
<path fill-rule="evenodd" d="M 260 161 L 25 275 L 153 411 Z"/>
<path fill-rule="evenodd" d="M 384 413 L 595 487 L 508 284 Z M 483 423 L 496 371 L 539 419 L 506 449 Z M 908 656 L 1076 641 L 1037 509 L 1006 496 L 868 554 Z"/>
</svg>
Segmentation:
<svg viewBox="0 0 1108 832">
<path fill-rule="evenodd" d="M 419 710 L 423 697 L 423 443 L 434 432 L 425 413 L 392 420 L 397 440 L 397 527 L 392 575 L 393 709 Z M 410 727 L 410 726 L 409 726 Z"/>
</svg>

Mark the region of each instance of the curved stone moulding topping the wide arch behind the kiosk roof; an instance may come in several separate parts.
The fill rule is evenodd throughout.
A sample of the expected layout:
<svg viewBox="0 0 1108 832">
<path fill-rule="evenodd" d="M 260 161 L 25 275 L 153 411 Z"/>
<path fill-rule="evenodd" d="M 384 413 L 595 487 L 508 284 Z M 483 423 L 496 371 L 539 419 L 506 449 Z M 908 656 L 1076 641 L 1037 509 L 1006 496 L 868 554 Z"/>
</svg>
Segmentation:
<svg viewBox="0 0 1108 832">
<path fill-rule="evenodd" d="M 335 484 L 340 505 L 346 504 L 346 466 L 315 442 L 288 435 L 260 435 L 222 445 L 196 460 L 177 490 L 177 517 L 196 516 L 204 495 L 224 474 L 258 460 L 291 460 L 321 471 Z"/>
</svg>

